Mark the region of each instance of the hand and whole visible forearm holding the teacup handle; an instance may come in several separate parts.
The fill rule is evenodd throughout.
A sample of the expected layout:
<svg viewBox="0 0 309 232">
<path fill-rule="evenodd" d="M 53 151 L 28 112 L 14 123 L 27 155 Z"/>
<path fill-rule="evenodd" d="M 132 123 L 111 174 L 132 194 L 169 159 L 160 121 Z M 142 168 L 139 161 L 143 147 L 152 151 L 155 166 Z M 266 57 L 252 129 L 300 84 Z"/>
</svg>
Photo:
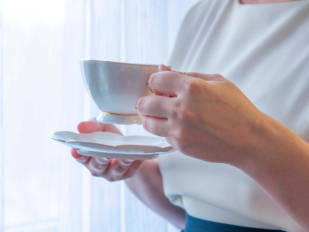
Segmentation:
<svg viewBox="0 0 309 232">
<path fill-rule="evenodd" d="M 149 86 L 155 95 L 137 106 L 146 130 L 181 153 L 241 169 L 309 231 L 309 143 L 220 75 L 160 66 Z"/>
</svg>

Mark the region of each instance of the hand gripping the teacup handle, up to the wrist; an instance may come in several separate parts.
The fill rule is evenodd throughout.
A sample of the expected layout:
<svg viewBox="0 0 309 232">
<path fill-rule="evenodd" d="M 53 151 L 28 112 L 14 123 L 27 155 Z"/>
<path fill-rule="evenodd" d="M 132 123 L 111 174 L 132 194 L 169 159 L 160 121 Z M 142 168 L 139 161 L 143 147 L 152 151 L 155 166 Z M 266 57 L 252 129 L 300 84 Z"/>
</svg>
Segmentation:
<svg viewBox="0 0 309 232">
<path fill-rule="evenodd" d="M 173 72 L 164 65 L 139 99 L 144 128 L 183 154 L 233 164 L 256 147 L 266 118 L 229 80 L 217 74 Z M 169 97 L 168 97 L 169 96 Z"/>
</svg>

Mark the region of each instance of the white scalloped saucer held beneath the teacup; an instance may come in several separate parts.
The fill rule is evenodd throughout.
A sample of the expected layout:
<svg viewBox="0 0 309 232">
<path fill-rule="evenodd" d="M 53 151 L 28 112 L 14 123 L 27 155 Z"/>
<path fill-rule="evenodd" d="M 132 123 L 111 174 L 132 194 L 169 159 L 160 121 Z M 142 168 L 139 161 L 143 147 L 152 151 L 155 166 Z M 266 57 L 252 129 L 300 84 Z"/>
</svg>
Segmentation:
<svg viewBox="0 0 309 232">
<path fill-rule="evenodd" d="M 69 147 L 87 152 L 161 155 L 174 151 L 174 148 L 163 138 L 152 136 L 122 136 L 101 131 L 80 134 L 71 131 L 58 131 L 49 137 Z"/>
</svg>

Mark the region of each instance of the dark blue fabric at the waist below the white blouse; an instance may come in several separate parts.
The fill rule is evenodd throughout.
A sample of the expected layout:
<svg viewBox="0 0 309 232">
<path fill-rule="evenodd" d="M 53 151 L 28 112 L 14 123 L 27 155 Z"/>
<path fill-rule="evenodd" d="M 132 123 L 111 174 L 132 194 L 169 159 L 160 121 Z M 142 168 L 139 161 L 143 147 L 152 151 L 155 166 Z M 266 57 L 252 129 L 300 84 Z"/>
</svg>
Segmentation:
<svg viewBox="0 0 309 232">
<path fill-rule="evenodd" d="M 204 221 L 186 215 L 186 229 L 182 232 L 282 232 L 278 230 L 257 229 L 249 227 L 233 226 L 229 224 Z"/>
</svg>

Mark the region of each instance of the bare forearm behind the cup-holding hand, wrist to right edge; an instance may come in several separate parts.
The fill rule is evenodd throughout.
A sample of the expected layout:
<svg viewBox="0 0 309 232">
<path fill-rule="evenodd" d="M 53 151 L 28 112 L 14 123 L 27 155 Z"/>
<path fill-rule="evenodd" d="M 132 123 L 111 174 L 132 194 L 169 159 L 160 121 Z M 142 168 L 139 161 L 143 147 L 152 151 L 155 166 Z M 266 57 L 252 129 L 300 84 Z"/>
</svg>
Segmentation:
<svg viewBox="0 0 309 232">
<path fill-rule="evenodd" d="M 309 231 L 309 144 L 270 117 L 257 134 L 252 153 L 238 167 Z"/>
</svg>

